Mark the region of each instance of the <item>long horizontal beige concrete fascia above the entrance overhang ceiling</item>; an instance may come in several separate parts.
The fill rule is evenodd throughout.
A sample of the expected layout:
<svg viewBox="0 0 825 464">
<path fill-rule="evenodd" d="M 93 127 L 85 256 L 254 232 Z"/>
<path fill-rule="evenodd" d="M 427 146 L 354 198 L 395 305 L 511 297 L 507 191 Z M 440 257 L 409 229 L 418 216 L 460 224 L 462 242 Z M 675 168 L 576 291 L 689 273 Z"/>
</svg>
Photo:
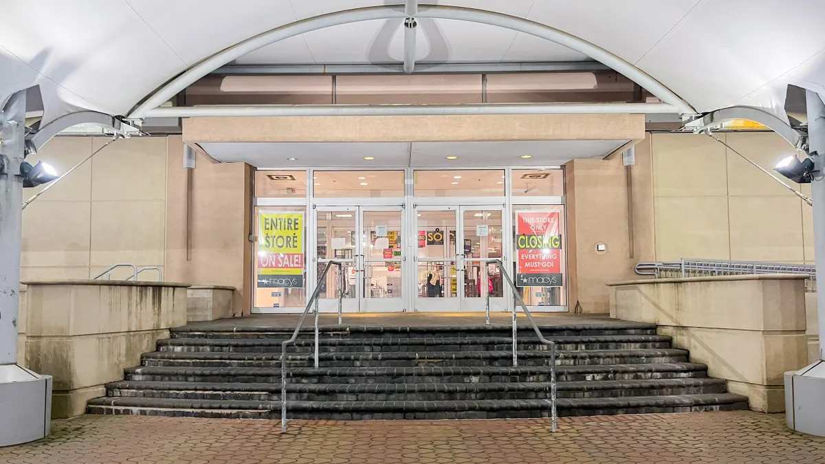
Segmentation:
<svg viewBox="0 0 825 464">
<path fill-rule="evenodd" d="M 186 143 L 640 140 L 643 115 L 191 117 Z"/>
</svg>

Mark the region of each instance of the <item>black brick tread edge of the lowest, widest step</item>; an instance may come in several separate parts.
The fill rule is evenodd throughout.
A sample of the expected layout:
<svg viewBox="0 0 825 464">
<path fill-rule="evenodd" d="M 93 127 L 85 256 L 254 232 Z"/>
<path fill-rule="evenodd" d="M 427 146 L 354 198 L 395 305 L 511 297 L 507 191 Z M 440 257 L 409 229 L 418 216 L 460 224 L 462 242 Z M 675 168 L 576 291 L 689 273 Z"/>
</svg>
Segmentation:
<svg viewBox="0 0 825 464">
<path fill-rule="evenodd" d="M 700 395 L 625 396 L 621 398 L 559 398 L 558 409 L 608 409 L 643 406 L 719 405 L 747 402 L 733 393 Z M 187 410 L 281 410 L 281 401 L 188 400 L 177 398 L 101 397 L 88 405 Z M 550 400 L 441 400 L 441 401 L 289 401 L 290 410 L 331 411 L 446 411 L 446 410 L 548 410 Z"/>
</svg>

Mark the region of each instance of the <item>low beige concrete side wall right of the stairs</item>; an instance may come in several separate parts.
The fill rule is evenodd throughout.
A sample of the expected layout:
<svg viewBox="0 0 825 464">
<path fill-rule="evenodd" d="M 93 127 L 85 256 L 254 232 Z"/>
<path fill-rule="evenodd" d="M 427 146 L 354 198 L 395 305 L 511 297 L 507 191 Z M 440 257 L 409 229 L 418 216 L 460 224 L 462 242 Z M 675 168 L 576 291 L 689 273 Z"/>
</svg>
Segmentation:
<svg viewBox="0 0 825 464">
<path fill-rule="evenodd" d="M 797 275 L 693 277 L 612 286 L 612 317 L 658 324 L 752 410 L 785 408 L 783 372 L 808 364 L 804 280 Z"/>
</svg>

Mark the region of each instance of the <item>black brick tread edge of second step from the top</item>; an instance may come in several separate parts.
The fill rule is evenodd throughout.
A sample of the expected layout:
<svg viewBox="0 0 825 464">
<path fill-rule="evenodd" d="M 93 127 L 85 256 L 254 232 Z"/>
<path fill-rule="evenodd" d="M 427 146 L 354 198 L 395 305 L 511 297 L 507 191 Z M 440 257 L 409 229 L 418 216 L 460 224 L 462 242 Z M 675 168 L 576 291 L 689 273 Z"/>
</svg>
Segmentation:
<svg viewBox="0 0 825 464">
<path fill-rule="evenodd" d="M 567 335 L 547 337 L 555 343 L 645 343 L 669 342 L 667 335 Z M 158 341 L 159 346 L 273 346 L 281 347 L 284 339 L 163 339 Z M 518 343 L 539 343 L 535 337 L 521 338 Z M 291 346 L 314 346 L 314 340 L 298 339 Z M 319 339 L 320 346 L 361 346 L 361 345 L 483 345 L 512 343 L 511 337 L 432 337 L 411 339 Z"/>
</svg>

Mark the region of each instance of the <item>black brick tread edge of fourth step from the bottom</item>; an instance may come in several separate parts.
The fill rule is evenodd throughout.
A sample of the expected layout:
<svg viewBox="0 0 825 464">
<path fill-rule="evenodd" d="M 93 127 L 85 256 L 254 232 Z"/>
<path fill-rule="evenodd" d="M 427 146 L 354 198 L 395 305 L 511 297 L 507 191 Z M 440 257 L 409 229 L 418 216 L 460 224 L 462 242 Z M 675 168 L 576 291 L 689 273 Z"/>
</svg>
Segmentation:
<svg viewBox="0 0 825 464">
<path fill-rule="evenodd" d="M 550 357 L 549 350 L 519 350 L 519 357 Z M 679 348 L 629 348 L 629 349 L 593 349 L 577 351 L 558 351 L 559 359 L 590 357 L 687 357 L 688 352 Z M 314 353 L 287 353 L 288 361 L 305 361 L 314 357 Z M 322 361 L 347 360 L 441 360 L 441 359 L 501 359 L 512 357 L 512 351 L 427 351 L 422 353 L 389 352 L 351 352 L 318 353 Z M 200 353 L 191 351 L 156 351 L 145 353 L 144 359 L 188 359 L 188 360 L 226 360 L 226 361 L 278 361 L 281 353 Z"/>
</svg>

